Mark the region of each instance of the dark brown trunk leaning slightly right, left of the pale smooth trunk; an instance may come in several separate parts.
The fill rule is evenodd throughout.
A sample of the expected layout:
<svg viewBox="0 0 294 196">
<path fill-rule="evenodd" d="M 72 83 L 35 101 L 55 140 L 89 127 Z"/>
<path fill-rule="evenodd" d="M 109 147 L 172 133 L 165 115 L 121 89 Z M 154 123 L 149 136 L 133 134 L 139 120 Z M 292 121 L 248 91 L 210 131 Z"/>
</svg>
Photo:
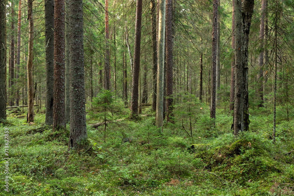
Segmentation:
<svg viewBox="0 0 294 196">
<path fill-rule="evenodd" d="M 140 69 L 140 52 L 141 52 L 141 21 L 142 21 L 142 0 L 137 0 L 136 5 L 136 24 L 135 24 L 135 46 L 134 46 L 134 67 L 132 78 L 131 94 L 131 118 L 138 115 L 138 83 Z"/>
</svg>

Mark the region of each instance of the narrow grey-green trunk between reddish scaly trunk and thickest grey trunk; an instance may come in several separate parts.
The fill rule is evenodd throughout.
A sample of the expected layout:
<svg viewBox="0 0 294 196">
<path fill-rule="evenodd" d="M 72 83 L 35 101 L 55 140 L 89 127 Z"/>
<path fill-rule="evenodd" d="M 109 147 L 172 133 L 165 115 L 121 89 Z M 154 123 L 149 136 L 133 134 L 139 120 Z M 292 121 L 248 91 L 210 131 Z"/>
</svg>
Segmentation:
<svg viewBox="0 0 294 196">
<path fill-rule="evenodd" d="M 65 1 L 65 122 L 70 122 L 69 0 Z M 93 94 L 93 89 L 92 89 Z M 92 101 L 91 101 L 92 102 Z M 92 103 L 91 103 L 92 104 Z"/>
</svg>

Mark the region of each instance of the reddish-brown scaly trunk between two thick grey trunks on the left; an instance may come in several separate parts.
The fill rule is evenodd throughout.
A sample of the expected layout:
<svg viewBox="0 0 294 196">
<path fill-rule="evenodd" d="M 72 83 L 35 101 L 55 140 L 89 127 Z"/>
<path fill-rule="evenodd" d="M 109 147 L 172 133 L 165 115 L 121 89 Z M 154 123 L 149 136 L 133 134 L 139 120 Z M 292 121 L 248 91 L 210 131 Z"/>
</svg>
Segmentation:
<svg viewBox="0 0 294 196">
<path fill-rule="evenodd" d="M 53 129 L 65 129 L 65 3 L 54 1 Z"/>
</svg>

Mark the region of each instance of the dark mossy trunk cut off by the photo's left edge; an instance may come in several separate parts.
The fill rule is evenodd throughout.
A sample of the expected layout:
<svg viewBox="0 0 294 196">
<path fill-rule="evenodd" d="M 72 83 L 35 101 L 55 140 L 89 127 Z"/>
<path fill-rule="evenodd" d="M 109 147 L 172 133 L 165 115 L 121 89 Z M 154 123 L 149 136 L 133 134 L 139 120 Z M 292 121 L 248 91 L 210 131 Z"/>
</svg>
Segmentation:
<svg viewBox="0 0 294 196">
<path fill-rule="evenodd" d="M 0 0 L 0 121 L 6 120 L 6 7 Z"/>
</svg>

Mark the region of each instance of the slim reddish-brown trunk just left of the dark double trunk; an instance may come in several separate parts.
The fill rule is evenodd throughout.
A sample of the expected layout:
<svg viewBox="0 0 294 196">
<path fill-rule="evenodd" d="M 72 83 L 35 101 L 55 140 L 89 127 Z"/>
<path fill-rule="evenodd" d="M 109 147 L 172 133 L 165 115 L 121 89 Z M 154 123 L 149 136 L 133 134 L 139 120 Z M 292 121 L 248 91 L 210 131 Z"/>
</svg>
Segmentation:
<svg viewBox="0 0 294 196">
<path fill-rule="evenodd" d="M 230 88 L 230 110 L 234 110 L 234 96 L 235 96 L 235 0 L 232 1 L 232 49 L 234 54 L 231 61 L 231 88 Z"/>
</svg>

